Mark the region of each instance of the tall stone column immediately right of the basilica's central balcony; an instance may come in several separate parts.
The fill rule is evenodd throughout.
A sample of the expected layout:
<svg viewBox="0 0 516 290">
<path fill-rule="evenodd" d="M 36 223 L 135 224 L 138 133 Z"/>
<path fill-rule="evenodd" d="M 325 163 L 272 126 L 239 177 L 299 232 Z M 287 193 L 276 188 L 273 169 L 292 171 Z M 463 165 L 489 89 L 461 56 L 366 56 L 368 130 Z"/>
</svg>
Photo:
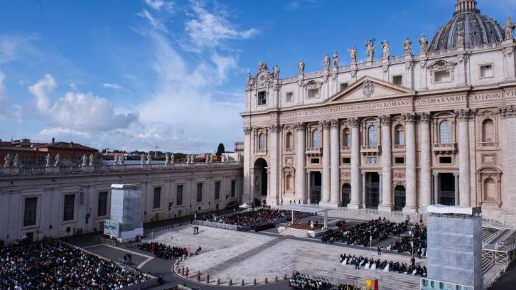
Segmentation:
<svg viewBox="0 0 516 290">
<path fill-rule="evenodd" d="M 379 116 L 382 122 L 382 199 L 378 210 L 392 210 L 392 154 L 391 154 L 391 116 Z"/>
</svg>

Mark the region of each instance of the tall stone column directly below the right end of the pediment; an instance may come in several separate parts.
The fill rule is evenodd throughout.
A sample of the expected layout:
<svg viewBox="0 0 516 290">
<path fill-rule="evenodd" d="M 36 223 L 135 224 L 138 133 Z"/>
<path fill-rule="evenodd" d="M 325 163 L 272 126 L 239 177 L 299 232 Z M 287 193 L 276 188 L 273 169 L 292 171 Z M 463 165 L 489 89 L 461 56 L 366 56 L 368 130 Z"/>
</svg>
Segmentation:
<svg viewBox="0 0 516 290">
<path fill-rule="evenodd" d="M 405 208 L 407 214 L 415 213 L 418 208 L 418 192 L 416 192 L 416 133 L 413 113 L 404 114 L 405 118 L 405 180 L 407 181 Z"/>
</svg>

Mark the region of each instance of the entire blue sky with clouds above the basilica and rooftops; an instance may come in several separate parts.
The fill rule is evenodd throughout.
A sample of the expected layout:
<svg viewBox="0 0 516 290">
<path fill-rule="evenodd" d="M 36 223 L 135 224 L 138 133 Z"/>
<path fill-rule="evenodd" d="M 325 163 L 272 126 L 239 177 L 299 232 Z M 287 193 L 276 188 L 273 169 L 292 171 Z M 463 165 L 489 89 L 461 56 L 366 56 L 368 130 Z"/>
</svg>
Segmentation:
<svg viewBox="0 0 516 290">
<path fill-rule="evenodd" d="M 242 141 L 246 74 L 431 38 L 455 0 L 0 1 L 0 137 L 200 153 Z M 504 23 L 516 0 L 478 0 Z M 414 50 L 419 49 L 413 45 Z"/>
</svg>

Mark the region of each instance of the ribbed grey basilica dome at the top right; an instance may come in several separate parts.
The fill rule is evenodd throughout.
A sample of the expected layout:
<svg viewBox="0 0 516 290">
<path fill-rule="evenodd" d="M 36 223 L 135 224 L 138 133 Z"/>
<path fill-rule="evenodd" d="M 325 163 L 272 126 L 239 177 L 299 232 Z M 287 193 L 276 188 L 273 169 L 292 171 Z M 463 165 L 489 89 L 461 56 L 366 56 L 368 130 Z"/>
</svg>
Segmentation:
<svg viewBox="0 0 516 290">
<path fill-rule="evenodd" d="M 475 0 L 458 0 L 453 18 L 433 36 L 430 52 L 471 47 L 504 40 L 504 29 L 489 16 L 480 14 Z"/>
</svg>

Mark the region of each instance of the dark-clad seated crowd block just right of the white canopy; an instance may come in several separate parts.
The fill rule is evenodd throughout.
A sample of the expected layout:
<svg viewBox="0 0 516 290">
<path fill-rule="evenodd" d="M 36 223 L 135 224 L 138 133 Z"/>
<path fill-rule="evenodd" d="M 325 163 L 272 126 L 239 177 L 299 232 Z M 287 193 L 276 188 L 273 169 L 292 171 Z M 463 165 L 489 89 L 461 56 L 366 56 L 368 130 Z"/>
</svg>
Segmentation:
<svg viewBox="0 0 516 290">
<path fill-rule="evenodd" d="M 372 236 L 373 240 L 382 240 L 388 236 L 399 236 L 402 232 L 405 232 L 408 227 L 408 221 L 402 223 L 394 223 L 387 221 L 385 217 L 381 219 L 374 219 L 359 223 L 349 229 L 341 227 L 338 230 L 328 230 L 321 241 L 335 241 L 342 242 L 346 245 L 363 245 L 366 247 L 369 244 L 369 236 Z"/>
</svg>

